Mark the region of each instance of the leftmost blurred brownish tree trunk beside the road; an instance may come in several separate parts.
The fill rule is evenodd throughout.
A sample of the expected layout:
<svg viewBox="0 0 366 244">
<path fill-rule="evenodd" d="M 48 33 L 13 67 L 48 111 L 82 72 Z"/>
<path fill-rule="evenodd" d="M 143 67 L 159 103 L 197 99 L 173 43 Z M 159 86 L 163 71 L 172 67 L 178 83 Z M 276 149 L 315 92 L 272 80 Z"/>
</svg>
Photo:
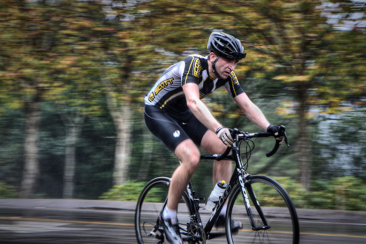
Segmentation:
<svg viewBox="0 0 366 244">
<path fill-rule="evenodd" d="M 39 177 L 38 136 L 41 120 L 40 90 L 32 101 L 26 104 L 26 131 L 25 131 L 25 165 L 23 170 L 20 197 L 31 198 L 36 190 Z"/>
</svg>

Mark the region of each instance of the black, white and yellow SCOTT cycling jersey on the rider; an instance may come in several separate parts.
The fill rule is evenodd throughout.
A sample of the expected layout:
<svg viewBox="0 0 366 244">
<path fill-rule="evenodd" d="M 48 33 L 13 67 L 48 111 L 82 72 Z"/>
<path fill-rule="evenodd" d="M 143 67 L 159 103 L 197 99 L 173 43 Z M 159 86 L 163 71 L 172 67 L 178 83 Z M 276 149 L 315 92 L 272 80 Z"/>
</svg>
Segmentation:
<svg viewBox="0 0 366 244">
<path fill-rule="evenodd" d="M 232 97 L 243 93 L 234 72 L 226 79 L 214 79 L 208 71 L 208 57 L 190 55 L 167 68 L 152 89 L 145 95 L 145 104 L 183 113 L 187 107 L 182 86 L 189 82 L 198 85 L 200 99 L 224 86 Z"/>
</svg>

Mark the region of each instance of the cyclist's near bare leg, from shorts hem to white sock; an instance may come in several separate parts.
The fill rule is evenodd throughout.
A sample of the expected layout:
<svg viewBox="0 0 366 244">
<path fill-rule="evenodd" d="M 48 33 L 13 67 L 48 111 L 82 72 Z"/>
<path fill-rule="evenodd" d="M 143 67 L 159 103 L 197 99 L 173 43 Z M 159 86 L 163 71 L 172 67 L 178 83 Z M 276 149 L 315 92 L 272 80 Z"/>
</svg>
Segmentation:
<svg viewBox="0 0 366 244">
<path fill-rule="evenodd" d="M 167 207 L 172 210 L 177 209 L 179 199 L 196 170 L 200 157 L 200 152 L 191 139 L 180 143 L 174 153 L 182 164 L 174 171 L 169 186 Z"/>
</svg>

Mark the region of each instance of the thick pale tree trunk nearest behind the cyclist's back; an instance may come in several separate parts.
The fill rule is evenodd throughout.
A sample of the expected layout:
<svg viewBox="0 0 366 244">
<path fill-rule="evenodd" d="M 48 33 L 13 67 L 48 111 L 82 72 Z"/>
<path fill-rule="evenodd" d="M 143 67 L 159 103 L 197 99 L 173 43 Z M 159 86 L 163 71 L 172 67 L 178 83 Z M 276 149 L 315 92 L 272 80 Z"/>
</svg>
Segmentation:
<svg viewBox="0 0 366 244">
<path fill-rule="evenodd" d="M 118 111 L 113 113 L 117 132 L 113 185 L 121 185 L 129 179 L 128 165 L 131 156 L 131 103 L 125 101 Z"/>
</svg>

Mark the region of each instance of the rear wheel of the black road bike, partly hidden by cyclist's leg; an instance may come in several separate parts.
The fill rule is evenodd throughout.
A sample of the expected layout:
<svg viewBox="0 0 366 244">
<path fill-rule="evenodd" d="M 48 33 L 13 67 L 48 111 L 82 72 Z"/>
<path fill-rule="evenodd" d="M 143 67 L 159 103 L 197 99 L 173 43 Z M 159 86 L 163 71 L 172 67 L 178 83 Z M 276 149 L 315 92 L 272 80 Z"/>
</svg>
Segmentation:
<svg viewBox="0 0 366 244">
<path fill-rule="evenodd" d="M 157 177 L 149 181 L 143 188 L 135 210 L 135 233 L 139 244 L 163 243 L 164 230 L 158 220 L 158 215 L 165 205 L 170 179 Z M 178 206 L 178 221 L 182 237 L 187 235 L 187 224 L 193 213 L 188 201 L 188 195 L 184 192 Z M 152 236 L 148 236 L 152 233 Z"/>
</svg>

